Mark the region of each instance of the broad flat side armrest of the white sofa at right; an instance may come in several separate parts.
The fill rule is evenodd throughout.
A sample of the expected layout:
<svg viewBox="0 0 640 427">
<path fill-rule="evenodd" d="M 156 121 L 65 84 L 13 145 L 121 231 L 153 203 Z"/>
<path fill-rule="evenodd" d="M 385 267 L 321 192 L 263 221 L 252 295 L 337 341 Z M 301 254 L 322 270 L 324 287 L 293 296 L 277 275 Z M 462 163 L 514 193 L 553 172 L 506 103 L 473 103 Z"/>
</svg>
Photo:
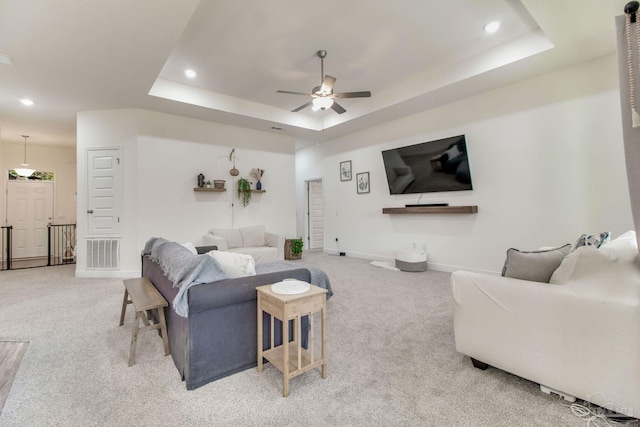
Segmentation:
<svg viewBox="0 0 640 427">
<path fill-rule="evenodd" d="M 598 405 L 593 390 L 623 406 L 640 401 L 640 386 L 618 393 L 620 381 L 611 374 L 615 364 L 625 366 L 617 371 L 624 378 L 640 378 L 635 286 L 615 278 L 590 287 L 465 271 L 452 273 L 451 285 L 458 352 Z"/>
</svg>

